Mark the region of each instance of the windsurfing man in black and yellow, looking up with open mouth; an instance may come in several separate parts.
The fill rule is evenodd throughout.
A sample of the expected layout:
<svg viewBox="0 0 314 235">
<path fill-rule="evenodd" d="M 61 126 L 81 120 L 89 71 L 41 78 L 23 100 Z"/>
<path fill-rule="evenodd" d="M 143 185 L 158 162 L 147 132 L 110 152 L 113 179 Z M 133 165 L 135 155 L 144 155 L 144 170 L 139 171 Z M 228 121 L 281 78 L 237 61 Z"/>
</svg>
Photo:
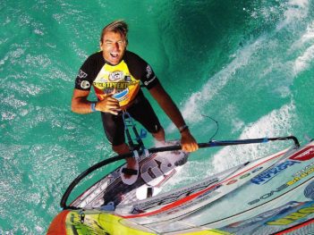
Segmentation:
<svg viewBox="0 0 314 235">
<path fill-rule="evenodd" d="M 128 26 L 124 21 L 114 21 L 102 30 L 101 51 L 89 56 L 75 80 L 72 112 L 101 112 L 106 137 L 118 155 L 130 152 L 124 138 L 123 110 L 130 113 L 158 141 L 165 141 L 165 131 L 140 90 L 141 81 L 179 129 L 182 149 L 187 152 L 197 150 L 198 144 L 191 136 L 182 114 L 157 80 L 154 71 L 139 55 L 126 50 L 127 33 Z M 91 86 L 95 89 L 97 102 L 88 100 Z M 134 164 L 133 158 L 127 158 L 127 168 L 133 169 Z"/>
</svg>

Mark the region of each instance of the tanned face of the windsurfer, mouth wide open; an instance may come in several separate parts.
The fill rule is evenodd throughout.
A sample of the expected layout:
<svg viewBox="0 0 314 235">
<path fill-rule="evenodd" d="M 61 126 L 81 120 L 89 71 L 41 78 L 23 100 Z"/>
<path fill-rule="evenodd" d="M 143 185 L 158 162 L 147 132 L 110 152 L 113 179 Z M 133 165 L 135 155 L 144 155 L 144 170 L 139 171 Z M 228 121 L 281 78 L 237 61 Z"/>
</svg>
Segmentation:
<svg viewBox="0 0 314 235">
<path fill-rule="evenodd" d="M 107 31 L 100 44 L 106 62 L 116 65 L 121 62 L 126 48 L 125 38 L 119 32 Z"/>
</svg>

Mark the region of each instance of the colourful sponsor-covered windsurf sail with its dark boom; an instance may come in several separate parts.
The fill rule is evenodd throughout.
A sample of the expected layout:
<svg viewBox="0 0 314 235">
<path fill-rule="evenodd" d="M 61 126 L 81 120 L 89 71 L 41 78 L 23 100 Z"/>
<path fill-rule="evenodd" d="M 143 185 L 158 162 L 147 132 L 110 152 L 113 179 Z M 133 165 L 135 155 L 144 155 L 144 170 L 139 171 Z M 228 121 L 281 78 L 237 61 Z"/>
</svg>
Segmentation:
<svg viewBox="0 0 314 235">
<path fill-rule="evenodd" d="M 121 199 L 112 211 L 76 201 L 84 194 L 67 206 L 68 195 L 64 194 L 61 202 L 64 211 L 55 217 L 48 234 L 310 234 L 314 231 L 313 141 L 303 147 L 294 137 L 212 141 L 199 146 L 283 139 L 293 139 L 294 146 L 218 172 L 182 189 L 130 200 L 136 197 L 133 194 Z M 179 145 L 160 150 L 178 148 Z M 124 157 L 116 156 L 115 160 Z M 91 170 L 113 161 L 108 160 L 92 166 Z M 89 169 L 73 182 L 84 178 Z M 66 193 L 75 187 L 73 182 Z M 100 182 L 87 191 L 101 195 L 99 189 L 105 186 Z"/>
</svg>

